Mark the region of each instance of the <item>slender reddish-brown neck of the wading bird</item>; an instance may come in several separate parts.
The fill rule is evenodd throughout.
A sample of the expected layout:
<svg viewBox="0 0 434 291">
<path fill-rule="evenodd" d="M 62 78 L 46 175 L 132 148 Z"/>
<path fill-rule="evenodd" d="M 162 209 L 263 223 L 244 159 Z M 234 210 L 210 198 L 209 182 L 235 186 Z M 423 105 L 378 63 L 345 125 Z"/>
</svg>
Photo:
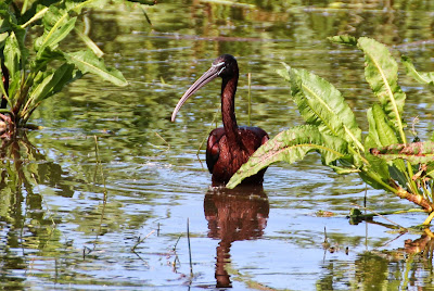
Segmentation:
<svg viewBox="0 0 434 291">
<path fill-rule="evenodd" d="M 239 144 L 238 125 L 235 117 L 235 92 L 238 76 L 224 79 L 221 85 L 221 116 L 229 143 Z"/>
</svg>

